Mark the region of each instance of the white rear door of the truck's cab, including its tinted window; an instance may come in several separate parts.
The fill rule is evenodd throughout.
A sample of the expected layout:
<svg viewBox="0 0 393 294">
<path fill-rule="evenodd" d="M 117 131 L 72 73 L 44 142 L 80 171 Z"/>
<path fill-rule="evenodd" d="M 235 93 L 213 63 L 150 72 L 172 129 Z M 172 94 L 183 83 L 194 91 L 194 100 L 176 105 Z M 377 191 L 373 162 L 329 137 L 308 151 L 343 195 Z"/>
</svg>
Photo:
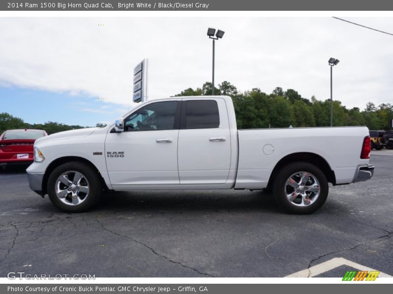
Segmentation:
<svg viewBox="0 0 393 294">
<path fill-rule="evenodd" d="M 180 184 L 224 184 L 231 158 L 223 98 L 185 98 L 178 139 Z"/>
</svg>

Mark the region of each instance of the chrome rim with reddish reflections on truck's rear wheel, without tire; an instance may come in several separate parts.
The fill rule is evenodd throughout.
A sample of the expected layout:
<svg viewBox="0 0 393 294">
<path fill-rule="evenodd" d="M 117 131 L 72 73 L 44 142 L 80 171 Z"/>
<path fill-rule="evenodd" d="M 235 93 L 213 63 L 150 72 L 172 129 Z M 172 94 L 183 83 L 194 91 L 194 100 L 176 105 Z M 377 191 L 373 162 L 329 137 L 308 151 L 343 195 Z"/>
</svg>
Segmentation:
<svg viewBox="0 0 393 294">
<path fill-rule="evenodd" d="M 285 182 L 284 193 L 288 201 L 296 206 L 309 206 L 321 192 L 319 181 L 309 172 L 296 172 Z"/>
</svg>

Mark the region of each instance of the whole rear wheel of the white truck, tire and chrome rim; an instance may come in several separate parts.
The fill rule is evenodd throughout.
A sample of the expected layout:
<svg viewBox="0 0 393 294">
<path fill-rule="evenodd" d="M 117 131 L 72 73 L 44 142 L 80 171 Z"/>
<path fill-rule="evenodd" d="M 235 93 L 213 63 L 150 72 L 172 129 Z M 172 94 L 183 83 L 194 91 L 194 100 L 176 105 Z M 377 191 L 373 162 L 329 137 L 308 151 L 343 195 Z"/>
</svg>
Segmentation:
<svg viewBox="0 0 393 294">
<path fill-rule="evenodd" d="M 319 168 L 306 162 L 296 162 L 284 166 L 277 174 L 273 192 L 287 212 L 309 214 L 325 203 L 329 185 Z"/>
</svg>

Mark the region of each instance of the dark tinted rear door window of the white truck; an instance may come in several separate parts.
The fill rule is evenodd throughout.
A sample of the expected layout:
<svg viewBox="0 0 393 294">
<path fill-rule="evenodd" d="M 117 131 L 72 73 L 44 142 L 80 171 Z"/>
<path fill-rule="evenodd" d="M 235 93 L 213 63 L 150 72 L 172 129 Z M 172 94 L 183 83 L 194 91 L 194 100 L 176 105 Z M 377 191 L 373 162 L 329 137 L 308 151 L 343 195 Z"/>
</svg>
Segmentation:
<svg viewBox="0 0 393 294">
<path fill-rule="evenodd" d="M 186 101 L 186 128 L 219 127 L 220 116 L 215 100 Z"/>
</svg>

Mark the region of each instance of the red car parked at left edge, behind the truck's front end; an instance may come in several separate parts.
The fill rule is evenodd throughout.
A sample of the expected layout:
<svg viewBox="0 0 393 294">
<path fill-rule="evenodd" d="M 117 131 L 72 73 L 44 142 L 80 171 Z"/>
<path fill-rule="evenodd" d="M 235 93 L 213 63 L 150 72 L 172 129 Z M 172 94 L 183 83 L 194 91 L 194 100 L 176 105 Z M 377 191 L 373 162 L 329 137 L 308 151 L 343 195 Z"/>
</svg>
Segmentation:
<svg viewBox="0 0 393 294">
<path fill-rule="evenodd" d="M 31 164 L 33 145 L 38 138 L 48 136 L 43 130 L 7 130 L 0 136 L 0 167 L 8 164 Z"/>
</svg>

